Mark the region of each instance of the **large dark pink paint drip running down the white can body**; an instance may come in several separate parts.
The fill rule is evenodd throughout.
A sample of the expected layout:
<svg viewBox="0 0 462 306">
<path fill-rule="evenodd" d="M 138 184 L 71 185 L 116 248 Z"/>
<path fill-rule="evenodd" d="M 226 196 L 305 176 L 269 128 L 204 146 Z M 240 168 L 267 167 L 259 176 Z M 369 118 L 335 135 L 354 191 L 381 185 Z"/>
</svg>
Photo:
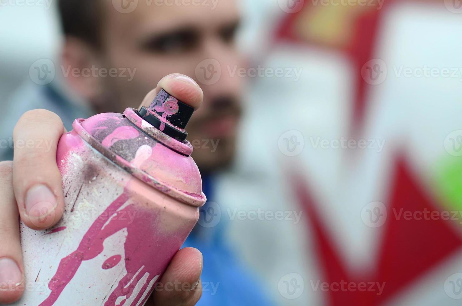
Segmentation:
<svg viewBox="0 0 462 306">
<path fill-rule="evenodd" d="M 140 279 L 148 273 L 148 277 L 139 293 L 135 297 L 132 305 L 137 305 L 143 294 L 146 292 L 149 283 L 160 275 L 173 257 L 172 254 L 181 247 L 184 237 L 188 233 L 177 233 L 175 236 L 159 234 L 155 226 L 157 211 L 152 208 L 142 208 L 135 204 L 130 204 L 126 208 L 118 210 L 124 203 L 129 200 L 128 192 L 124 192 L 101 214 L 97 220 L 90 226 L 80 241 L 76 251 L 61 259 L 56 274 L 49 282 L 51 293 L 40 306 L 52 306 L 72 280 L 81 263 L 91 260 L 103 252 L 103 243 L 105 239 L 113 234 L 127 229 L 127 238 L 124 244 L 125 268 L 127 274 L 122 277 L 118 285 L 109 294 L 105 306 L 116 306 L 116 300 L 119 297 L 129 299 L 133 294 L 134 288 L 140 282 Z M 135 222 L 129 222 L 126 216 L 128 213 L 134 214 Z M 106 222 L 109 220 L 109 223 Z M 105 225 L 106 224 L 106 225 Z M 159 249 L 162 246 L 162 249 Z M 167 251 L 170 250 L 170 251 Z M 116 259 L 120 255 L 109 258 L 107 269 L 114 267 Z M 122 257 L 121 257 L 122 258 Z M 119 259 L 120 260 L 120 259 Z M 103 269 L 105 265 L 103 264 Z M 147 294 L 141 305 L 149 297 Z"/>
</svg>

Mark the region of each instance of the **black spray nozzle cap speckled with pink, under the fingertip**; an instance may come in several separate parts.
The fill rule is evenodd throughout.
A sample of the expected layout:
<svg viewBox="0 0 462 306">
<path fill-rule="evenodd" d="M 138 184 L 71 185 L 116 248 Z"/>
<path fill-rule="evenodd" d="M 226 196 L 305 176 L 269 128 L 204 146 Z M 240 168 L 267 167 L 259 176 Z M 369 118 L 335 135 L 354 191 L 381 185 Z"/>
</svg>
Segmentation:
<svg viewBox="0 0 462 306">
<path fill-rule="evenodd" d="M 139 113 L 141 118 L 155 128 L 178 141 L 184 141 L 188 136 L 184 129 L 193 112 L 194 108 L 161 89 L 149 109 L 143 106 Z"/>
</svg>

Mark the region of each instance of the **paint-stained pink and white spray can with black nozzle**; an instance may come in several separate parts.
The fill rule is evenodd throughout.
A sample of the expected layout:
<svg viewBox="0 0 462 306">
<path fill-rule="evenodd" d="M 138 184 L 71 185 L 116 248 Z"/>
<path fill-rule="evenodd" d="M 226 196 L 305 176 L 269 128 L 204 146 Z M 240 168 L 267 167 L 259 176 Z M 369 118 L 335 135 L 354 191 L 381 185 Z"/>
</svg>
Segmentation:
<svg viewBox="0 0 462 306">
<path fill-rule="evenodd" d="M 16 305 L 144 305 L 206 202 L 184 128 L 194 109 L 161 90 L 149 108 L 77 119 L 57 152 L 65 210 L 21 224 Z"/>
</svg>

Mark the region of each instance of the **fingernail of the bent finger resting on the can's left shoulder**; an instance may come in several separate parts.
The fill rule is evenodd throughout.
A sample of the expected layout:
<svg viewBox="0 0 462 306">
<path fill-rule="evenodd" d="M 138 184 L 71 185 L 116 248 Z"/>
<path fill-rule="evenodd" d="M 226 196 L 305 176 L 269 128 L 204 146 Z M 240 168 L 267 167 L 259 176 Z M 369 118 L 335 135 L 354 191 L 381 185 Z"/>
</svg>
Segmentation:
<svg viewBox="0 0 462 306">
<path fill-rule="evenodd" d="M 31 217 L 46 216 L 57 206 L 53 192 L 45 185 L 36 185 L 27 191 L 25 209 Z"/>
</svg>

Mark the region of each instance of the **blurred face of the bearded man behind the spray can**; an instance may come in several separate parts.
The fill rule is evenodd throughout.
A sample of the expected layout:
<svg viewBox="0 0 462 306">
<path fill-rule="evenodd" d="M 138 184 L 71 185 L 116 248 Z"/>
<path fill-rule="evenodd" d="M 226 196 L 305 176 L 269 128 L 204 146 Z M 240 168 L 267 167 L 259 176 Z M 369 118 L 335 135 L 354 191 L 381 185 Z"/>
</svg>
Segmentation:
<svg viewBox="0 0 462 306">
<path fill-rule="evenodd" d="M 185 6 L 176 5 L 181 0 L 139 0 L 130 13 L 118 12 L 112 0 L 103 2 L 103 65 L 136 68 L 136 72 L 131 81 L 106 78 L 104 91 L 115 95 L 98 108 L 123 111 L 134 107 L 165 75 L 186 74 L 204 91 L 204 103 L 187 127 L 188 140 L 195 147 L 193 157 L 202 171 L 228 165 L 235 152 L 242 82 L 228 73 L 242 67 L 234 44 L 239 23 L 235 1 L 209 0 L 205 1 L 208 6 Z M 207 59 L 221 66 L 221 77 L 212 85 L 204 85 L 205 79 L 196 74 L 198 64 Z M 205 67 L 206 77 L 211 76 L 212 68 L 216 70 L 208 62 Z"/>
</svg>

